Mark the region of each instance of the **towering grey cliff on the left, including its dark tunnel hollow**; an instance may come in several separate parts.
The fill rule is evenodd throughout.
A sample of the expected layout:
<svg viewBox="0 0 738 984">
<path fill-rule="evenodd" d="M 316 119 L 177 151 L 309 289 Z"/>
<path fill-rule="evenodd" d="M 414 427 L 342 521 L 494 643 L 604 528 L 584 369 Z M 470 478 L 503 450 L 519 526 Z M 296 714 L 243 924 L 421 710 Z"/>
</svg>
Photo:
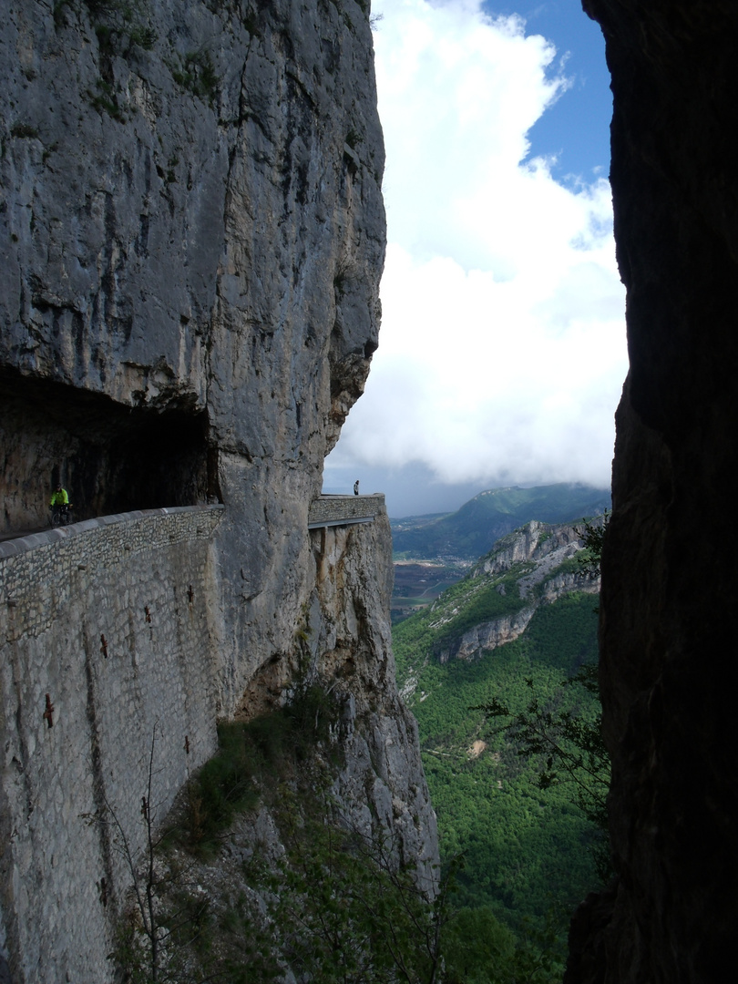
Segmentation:
<svg viewBox="0 0 738 984">
<path fill-rule="evenodd" d="M 368 4 L 8 0 L 0 105 L 0 528 L 224 502 L 227 713 L 377 344 Z"/>
</svg>

